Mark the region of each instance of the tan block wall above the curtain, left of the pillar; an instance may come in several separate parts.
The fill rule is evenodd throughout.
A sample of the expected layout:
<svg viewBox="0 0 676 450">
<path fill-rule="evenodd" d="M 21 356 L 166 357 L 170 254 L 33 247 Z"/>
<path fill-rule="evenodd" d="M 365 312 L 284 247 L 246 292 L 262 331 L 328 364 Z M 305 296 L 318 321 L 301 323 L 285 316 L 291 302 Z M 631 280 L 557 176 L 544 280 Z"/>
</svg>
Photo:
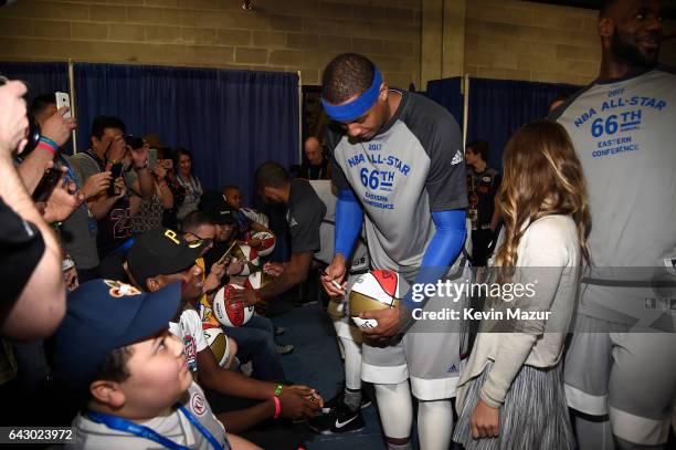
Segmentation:
<svg viewBox="0 0 676 450">
<path fill-rule="evenodd" d="M 20 0 L 0 9 L 0 60 L 300 71 L 372 57 L 392 85 L 420 76 L 420 0 Z M 366 3 L 366 4 L 365 4 Z"/>
</svg>

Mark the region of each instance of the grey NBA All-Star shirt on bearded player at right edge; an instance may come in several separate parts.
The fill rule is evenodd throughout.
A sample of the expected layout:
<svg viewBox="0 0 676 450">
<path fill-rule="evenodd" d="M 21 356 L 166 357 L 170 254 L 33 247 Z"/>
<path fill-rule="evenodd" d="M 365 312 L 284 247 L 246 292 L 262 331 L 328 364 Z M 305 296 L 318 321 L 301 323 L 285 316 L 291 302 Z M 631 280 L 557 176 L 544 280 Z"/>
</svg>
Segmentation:
<svg viewBox="0 0 676 450">
<path fill-rule="evenodd" d="M 676 262 L 676 74 L 655 69 L 596 81 L 550 118 L 568 130 L 587 179 L 593 270 L 580 311 L 635 323 L 659 292 L 593 280 L 649 281 Z"/>
</svg>

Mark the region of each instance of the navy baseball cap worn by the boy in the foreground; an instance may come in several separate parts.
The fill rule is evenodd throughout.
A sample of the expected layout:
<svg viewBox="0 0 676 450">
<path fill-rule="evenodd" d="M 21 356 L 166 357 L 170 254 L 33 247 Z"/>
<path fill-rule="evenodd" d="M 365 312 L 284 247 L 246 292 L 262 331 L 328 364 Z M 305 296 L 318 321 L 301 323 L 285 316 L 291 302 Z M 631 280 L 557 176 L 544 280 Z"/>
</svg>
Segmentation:
<svg viewBox="0 0 676 450">
<path fill-rule="evenodd" d="M 68 294 L 66 315 L 54 335 L 54 379 L 81 388 L 115 348 L 166 329 L 181 300 L 180 283 L 157 292 L 110 280 L 92 280 Z"/>
</svg>

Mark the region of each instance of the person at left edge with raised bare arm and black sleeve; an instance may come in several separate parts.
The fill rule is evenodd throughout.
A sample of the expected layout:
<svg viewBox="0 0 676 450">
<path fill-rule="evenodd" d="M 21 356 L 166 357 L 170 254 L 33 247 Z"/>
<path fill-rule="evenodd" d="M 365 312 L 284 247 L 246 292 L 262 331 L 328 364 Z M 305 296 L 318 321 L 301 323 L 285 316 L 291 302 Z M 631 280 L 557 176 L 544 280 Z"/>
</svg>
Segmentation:
<svg viewBox="0 0 676 450">
<path fill-rule="evenodd" d="M 0 87 L 0 335 L 14 339 L 51 335 L 65 313 L 59 242 L 12 160 L 28 143 L 25 92 L 18 81 Z"/>
</svg>

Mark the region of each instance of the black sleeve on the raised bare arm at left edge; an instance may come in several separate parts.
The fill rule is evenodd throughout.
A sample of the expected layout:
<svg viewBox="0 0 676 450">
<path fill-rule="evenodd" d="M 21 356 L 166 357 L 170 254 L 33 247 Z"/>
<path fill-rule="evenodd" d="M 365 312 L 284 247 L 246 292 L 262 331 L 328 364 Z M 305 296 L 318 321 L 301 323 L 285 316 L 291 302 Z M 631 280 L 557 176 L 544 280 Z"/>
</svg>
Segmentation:
<svg viewBox="0 0 676 450">
<path fill-rule="evenodd" d="M 44 253 L 38 228 L 24 221 L 0 199 L 0 308 L 11 306 Z"/>
</svg>

